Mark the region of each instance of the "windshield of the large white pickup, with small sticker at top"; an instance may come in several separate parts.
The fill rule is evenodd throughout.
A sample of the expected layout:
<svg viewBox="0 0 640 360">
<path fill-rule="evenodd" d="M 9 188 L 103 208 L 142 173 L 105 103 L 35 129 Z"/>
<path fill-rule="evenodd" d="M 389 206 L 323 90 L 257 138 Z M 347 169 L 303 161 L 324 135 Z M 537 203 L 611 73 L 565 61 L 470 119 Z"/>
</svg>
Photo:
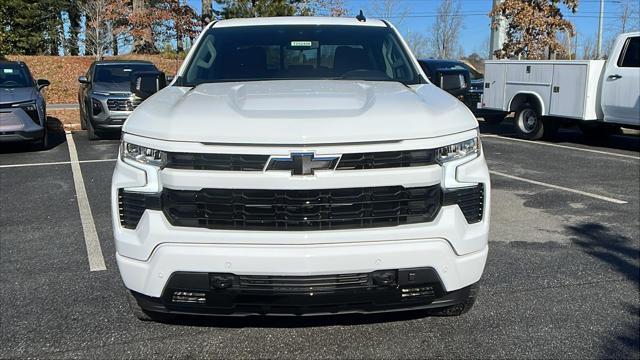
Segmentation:
<svg viewBox="0 0 640 360">
<path fill-rule="evenodd" d="M 419 81 L 390 28 L 270 25 L 209 29 L 180 85 L 294 79 Z"/>
</svg>

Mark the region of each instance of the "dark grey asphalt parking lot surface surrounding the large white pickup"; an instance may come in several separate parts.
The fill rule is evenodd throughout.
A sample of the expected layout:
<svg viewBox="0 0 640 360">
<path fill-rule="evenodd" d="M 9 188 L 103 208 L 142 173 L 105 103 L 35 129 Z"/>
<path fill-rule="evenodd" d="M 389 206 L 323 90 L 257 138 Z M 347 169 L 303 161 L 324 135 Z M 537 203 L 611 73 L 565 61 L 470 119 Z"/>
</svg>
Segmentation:
<svg viewBox="0 0 640 360">
<path fill-rule="evenodd" d="M 640 357 L 640 137 L 594 143 L 563 130 L 531 143 L 511 130 L 482 127 L 490 253 L 475 307 L 457 318 L 140 322 L 111 233 L 117 136 L 58 131 L 47 151 L 1 148 L 0 357 Z M 106 270 L 90 271 L 74 166 Z"/>
</svg>

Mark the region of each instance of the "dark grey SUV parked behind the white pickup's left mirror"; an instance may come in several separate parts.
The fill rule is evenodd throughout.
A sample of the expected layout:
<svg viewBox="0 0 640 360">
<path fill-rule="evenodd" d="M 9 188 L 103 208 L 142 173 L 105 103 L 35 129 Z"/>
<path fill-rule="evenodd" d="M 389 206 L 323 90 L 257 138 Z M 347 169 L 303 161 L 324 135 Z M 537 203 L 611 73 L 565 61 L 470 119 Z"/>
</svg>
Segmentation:
<svg viewBox="0 0 640 360">
<path fill-rule="evenodd" d="M 78 78 L 80 124 L 90 140 L 99 139 L 104 132 L 120 131 L 139 105 L 141 100 L 131 93 L 131 74 L 140 71 L 158 69 L 149 61 L 94 61 L 86 75 Z"/>
</svg>

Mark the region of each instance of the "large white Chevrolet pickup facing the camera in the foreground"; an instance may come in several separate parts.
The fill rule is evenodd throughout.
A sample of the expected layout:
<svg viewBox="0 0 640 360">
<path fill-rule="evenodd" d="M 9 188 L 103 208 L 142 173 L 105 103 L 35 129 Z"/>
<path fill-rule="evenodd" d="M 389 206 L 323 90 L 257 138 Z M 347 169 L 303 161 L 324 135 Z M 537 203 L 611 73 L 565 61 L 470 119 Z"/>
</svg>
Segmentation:
<svg viewBox="0 0 640 360">
<path fill-rule="evenodd" d="M 489 194 L 475 117 L 389 23 L 219 21 L 124 124 L 116 259 L 140 318 L 459 315 Z"/>
</svg>

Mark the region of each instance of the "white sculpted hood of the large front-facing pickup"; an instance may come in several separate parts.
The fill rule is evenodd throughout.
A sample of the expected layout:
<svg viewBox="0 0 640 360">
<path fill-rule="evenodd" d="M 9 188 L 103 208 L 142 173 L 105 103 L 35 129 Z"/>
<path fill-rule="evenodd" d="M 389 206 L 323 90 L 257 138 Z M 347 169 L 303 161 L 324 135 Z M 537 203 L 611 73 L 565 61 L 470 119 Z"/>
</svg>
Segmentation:
<svg viewBox="0 0 640 360">
<path fill-rule="evenodd" d="M 337 144 L 450 135 L 477 127 L 458 100 L 431 85 L 286 80 L 170 86 L 123 130 L 201 143 Z"/>
</svg>

